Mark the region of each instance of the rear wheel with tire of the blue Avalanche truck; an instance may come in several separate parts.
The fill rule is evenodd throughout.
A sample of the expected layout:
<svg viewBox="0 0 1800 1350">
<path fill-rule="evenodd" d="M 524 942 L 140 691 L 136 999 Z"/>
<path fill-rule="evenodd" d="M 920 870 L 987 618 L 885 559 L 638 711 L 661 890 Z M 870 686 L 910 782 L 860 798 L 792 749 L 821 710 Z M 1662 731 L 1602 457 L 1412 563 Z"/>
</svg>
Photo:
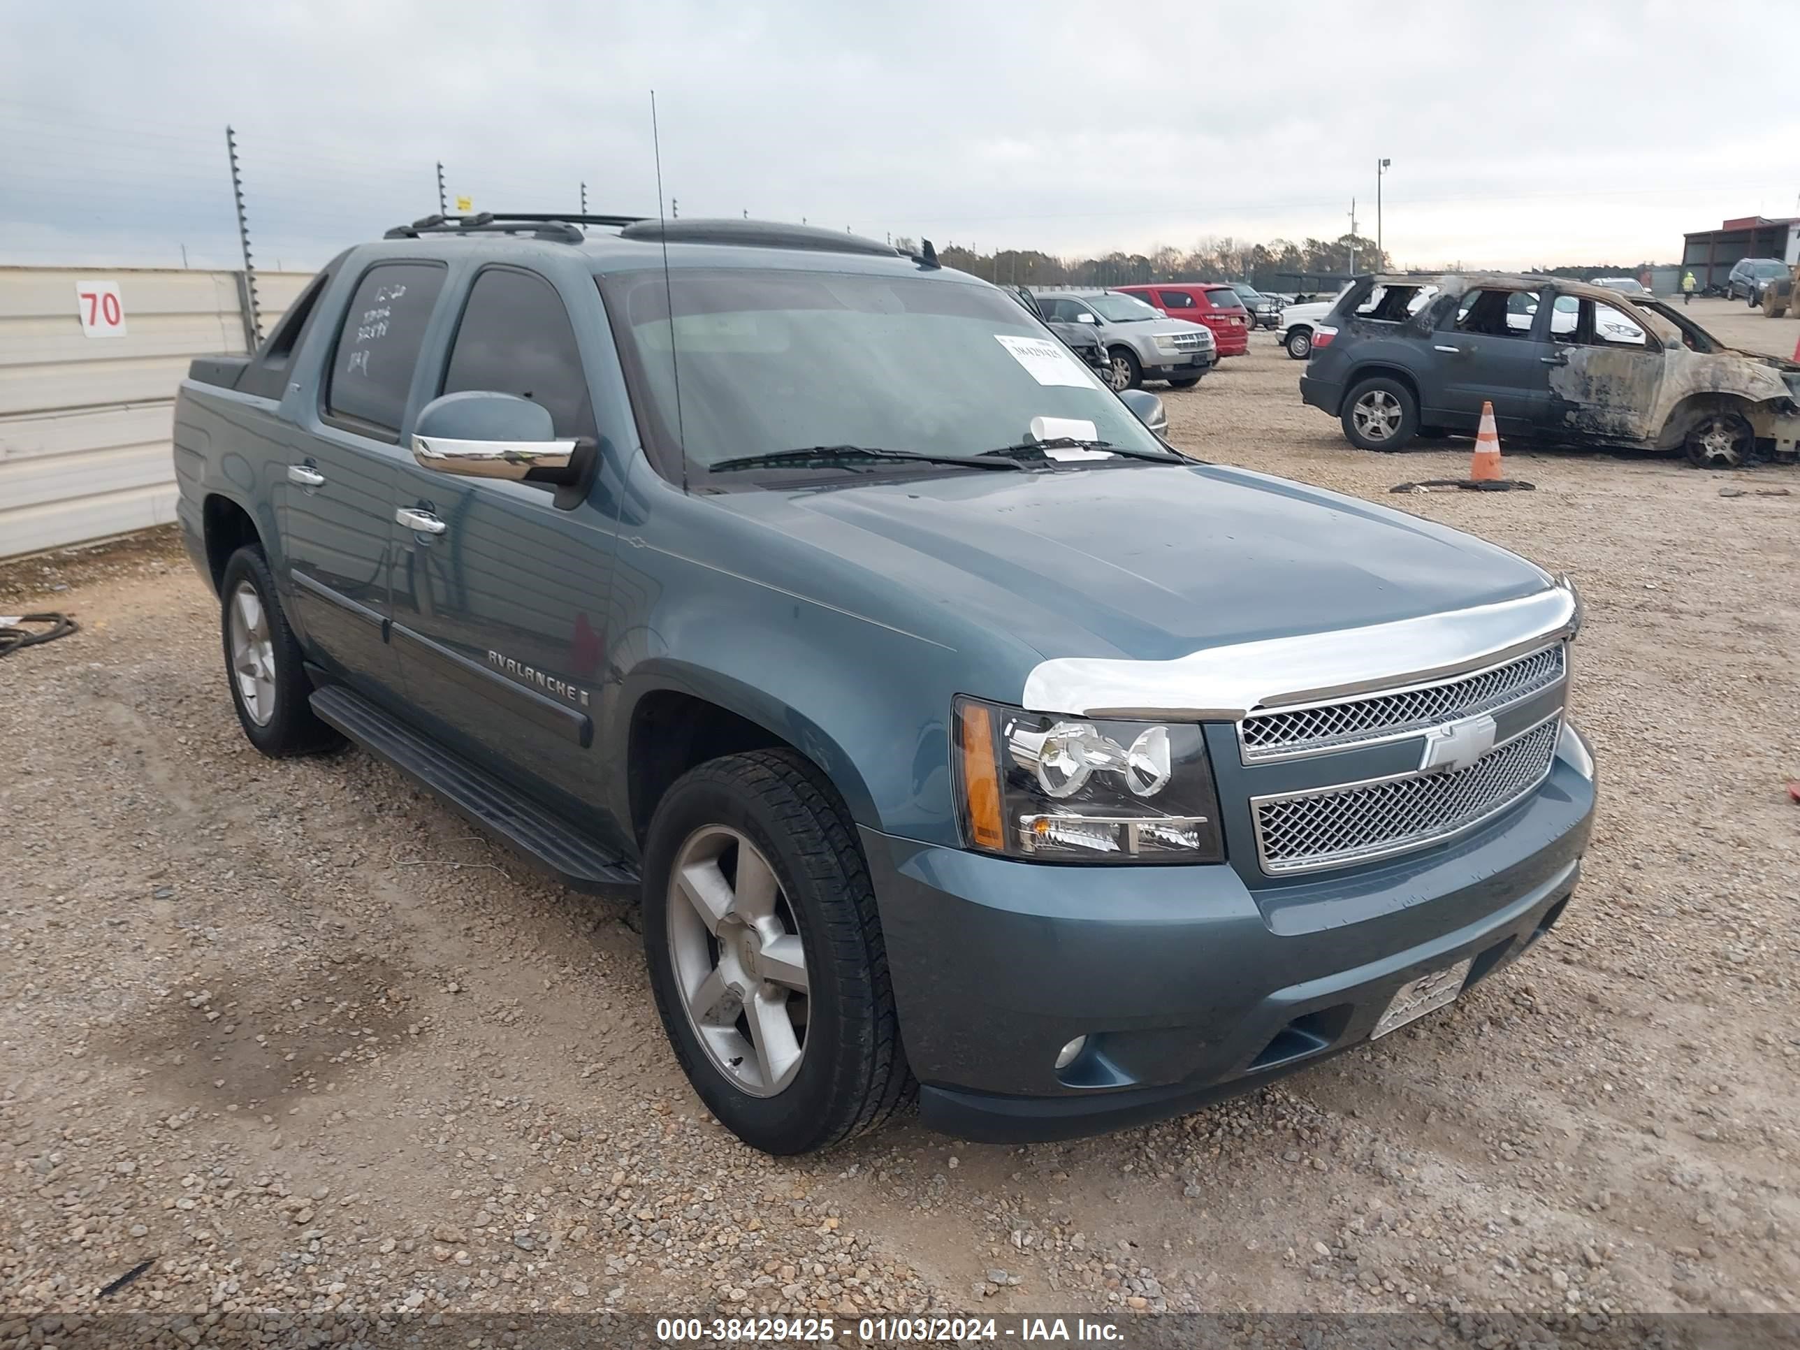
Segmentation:
<svg viewBox="0 0 1800 1350">
<path fill-rule="evenodd" d="M 225 677 L 243 734 L 263 754 L 317 754 L 344 738 L 313 716 L 313 682 L 301 644 L 275 594 L 263 549 L 245 544 L 225 560 L 220 580 L 220 634 Z"/>
</svg>

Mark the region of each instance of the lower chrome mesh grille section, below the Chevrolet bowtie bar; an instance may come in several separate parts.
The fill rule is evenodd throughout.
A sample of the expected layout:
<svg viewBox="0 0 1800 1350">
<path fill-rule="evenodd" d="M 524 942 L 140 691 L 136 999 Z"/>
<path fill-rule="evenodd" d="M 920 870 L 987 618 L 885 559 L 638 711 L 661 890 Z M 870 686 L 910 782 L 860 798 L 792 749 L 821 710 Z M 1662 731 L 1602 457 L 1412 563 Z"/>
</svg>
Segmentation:
<svg viewBox="0 0 1800 1350">
<path fill-rule="evenodd" d="M 1256 855 L 1271 877 L 1404 853 L 1449 839 L 1521 801 L 1550 774 L 1561 713 L 1467 769 L 1251 797 Z"/>
</svg>

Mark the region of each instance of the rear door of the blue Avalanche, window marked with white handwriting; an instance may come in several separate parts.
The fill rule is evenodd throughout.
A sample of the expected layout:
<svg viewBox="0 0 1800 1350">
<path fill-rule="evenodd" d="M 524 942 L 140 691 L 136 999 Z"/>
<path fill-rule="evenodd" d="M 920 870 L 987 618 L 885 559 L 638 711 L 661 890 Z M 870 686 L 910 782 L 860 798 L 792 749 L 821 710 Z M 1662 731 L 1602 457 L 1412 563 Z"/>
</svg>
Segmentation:
<svg viewBox="0 0 1800 1350">
<path fill-rule="evenodd" d="M 362 274 L 275 484 L 308 655 L 387 702 L 400 695 L 385 632 L 400 428 L 445 275 L 432 261 Z"/>
</svg>

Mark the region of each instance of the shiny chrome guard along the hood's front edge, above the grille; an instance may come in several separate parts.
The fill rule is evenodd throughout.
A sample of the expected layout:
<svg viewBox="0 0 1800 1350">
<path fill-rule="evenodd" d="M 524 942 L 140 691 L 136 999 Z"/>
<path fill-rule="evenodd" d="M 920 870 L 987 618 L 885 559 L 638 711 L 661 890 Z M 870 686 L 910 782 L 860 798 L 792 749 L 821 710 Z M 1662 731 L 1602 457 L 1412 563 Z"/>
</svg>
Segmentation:
<svg viewBox="0 0 1800 1350">
<path fill-rule="evenodd" d="M 1330 702 L 1503 664 L 1573 637 L 1579 625 L 1575 587 L 1557 578 L 1546 590 L 1517 599 L 1231 643 L 1172 661 L 1053 657 L 1026 675 L 1022 706 L 1071 716 L 1240 722 L 1258 707 Z M 1404 653 L 1404 664 L 1395 653 Z"/>
</svg>

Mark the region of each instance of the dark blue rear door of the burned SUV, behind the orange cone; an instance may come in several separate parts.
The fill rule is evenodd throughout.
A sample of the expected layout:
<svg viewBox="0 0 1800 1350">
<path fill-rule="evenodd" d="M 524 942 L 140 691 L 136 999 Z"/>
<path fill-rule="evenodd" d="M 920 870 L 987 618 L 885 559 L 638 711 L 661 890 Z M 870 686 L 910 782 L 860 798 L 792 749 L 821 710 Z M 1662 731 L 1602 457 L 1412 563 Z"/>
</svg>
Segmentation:
<svg viewBox="0 0 1800 1350">
<path fill-rule="evenodd" d="M 1494 405 L 1503 434 L 1526 434 L 1548 414 L 1550 306 L 1535 292 L 1481 288 L 1444 301 L 1431 335 L 1420 401 L 1426 421 L 1474 430 L 1481 405 Z"/>
</svg>

